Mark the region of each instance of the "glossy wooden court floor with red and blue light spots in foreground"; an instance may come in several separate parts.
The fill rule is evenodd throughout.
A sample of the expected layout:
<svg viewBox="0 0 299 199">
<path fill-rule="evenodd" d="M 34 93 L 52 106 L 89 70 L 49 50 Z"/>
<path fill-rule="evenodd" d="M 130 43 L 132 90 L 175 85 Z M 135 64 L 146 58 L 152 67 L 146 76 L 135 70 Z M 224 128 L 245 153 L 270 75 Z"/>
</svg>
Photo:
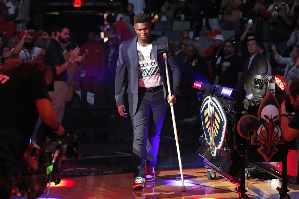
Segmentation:
<svg viewBox="0 0 299 199">
<path fill-rule="evenodd" d="M 154 182 L 145 182 L 143 190 L 133 190 L 133 174 L 98 175 L 63 179 L 61 187 L 51 186 L 49 198 L 59 199 L 237 199 L 236 185 L 217 175 L 215 180 L 206 178 L 205 169 L 183 170 L 187 191 L 182 192 L 180 171 L 156 171 Z M 281 181 L 252 178 L 245 181 L 249 198 L 279 199 L 276 191 Z M 299 185 L 290 183 L 288 193 L 299 198 Z M 45 190 L 46 191 L 46 190 Z M 46 195 L 40 196 L 45 198 Z"/>
</svg>

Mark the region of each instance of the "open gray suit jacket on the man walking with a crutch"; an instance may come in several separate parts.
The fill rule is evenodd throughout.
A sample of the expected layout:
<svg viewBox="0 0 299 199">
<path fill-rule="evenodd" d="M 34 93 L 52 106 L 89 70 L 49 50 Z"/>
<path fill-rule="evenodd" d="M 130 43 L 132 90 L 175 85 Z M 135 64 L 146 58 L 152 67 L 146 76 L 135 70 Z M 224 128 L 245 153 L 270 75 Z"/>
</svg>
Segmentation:
<svg viewBox="0 0 299 199">
<path fill-rule="evenodd" d="M 160 76 L 163 82 L 165 104 L 169 105 L 167 102 L 168 88 L 163 53 L 166 53 L 168 57 L 168 74 L 171 91 L 176 94 L 179 94 L 180 90 L 180 69 L 167 37 L 151 35 L 151 41 L 154 58 L 159 67 Z M 137 36 L 120 45 L 115 76 L 116 105 L 124 105 L 125 74 L 128 72 L 129 82 L 127 92 L 130 116 L 135 115 L 138 103 L 139 62 L 136 42 Z"/>
</svg>

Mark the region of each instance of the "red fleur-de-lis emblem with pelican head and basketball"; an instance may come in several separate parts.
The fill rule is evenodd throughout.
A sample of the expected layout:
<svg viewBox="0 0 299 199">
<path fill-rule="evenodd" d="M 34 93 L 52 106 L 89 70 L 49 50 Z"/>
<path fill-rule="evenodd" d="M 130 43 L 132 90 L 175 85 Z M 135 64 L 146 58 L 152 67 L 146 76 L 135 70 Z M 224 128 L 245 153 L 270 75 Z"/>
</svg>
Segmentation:
<svg viewBox="0 0 299 199">
<path fill-rule="evenodd" d="M 284 144 L 279 113 L 278 101 L 269 91 L 259 106 L 258 118 L 254 115 L 244 115 L 238 123 L 240 136 L 251 139 L 252 145 L 260 145 L 258 151 L 267 162 L 278 151 L 276 145 Z M 253 135 L 250 136 L 249 132 L 253 132 Z"/>
</svg>

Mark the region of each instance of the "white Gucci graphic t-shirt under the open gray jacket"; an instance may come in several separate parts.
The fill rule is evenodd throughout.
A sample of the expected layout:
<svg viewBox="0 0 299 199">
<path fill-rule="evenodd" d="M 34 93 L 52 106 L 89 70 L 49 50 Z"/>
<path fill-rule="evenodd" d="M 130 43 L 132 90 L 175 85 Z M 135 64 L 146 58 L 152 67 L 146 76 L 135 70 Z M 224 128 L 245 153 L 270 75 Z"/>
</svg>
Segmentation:
<svg viewBox="0 0 299 199">
<path fill-rule="evenodd" d="M 161 86 L 160 70 L 154 58 L 152 44 L 143 47 L 137 42 L 137 53 L 139 62 L 139 86 L 145 88 Z"/>
</svg>

